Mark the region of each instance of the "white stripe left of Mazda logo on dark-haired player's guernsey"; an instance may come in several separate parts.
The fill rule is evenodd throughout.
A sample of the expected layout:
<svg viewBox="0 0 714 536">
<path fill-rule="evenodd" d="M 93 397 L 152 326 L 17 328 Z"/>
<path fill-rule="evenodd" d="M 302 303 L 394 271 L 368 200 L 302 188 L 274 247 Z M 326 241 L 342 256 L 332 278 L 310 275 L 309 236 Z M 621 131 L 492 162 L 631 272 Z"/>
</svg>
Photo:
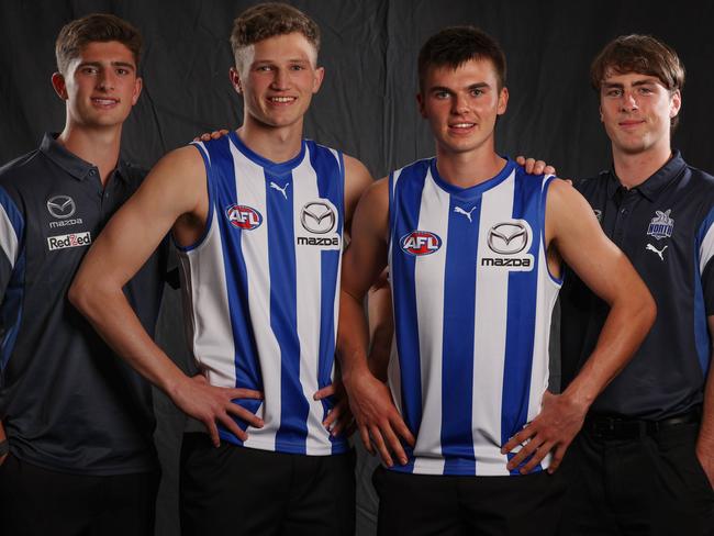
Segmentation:
<svg viewBox="0 0 714 536">
<path fill-rule="evenodd" d="M 512 172 L 481 198 L 477 270 L 483 255 L 490 256 L 487 245 L 489 230 L 513 213 L 514 175 Z M 507 295 L 507 270 L 481 270 L 478 273 L 473 319 L 472 431 L 479 476 L 509 474 L 505 468 L 507 458 L 500 454 Z"/>
</svg>

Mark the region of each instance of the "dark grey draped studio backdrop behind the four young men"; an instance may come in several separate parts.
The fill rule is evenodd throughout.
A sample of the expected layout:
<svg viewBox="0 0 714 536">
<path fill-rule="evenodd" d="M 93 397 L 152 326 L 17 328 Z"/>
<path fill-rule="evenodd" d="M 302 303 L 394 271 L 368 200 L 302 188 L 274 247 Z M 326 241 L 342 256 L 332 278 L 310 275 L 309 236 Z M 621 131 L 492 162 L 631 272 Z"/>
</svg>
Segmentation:
<svg viewBox="0 0 714 536">
<path fill-rule="evenodd" d="M 64 126 L 64 104 L 49 77 L 54 43 L 68 21 L 115 13 L 142 31 L 144 92 L 124 129 L 124 152 L 152 166 L 163 154 L 216 127 L 236 127 L 242 102 L 228 83 L 234 16 L 254 1 L 0 0 L 0 163 Z M 693 166 L 714 171 L 709 134 L 714 88 L 714 3 L 657 1 L 305 0 L 291 2 L 322 29 L 325 82 L 305 121 L 308 137 L 360 158 L 376 177 L 433 154 L 416 112 L 416 55 L 446 25 L 475 24 L 495 36 L 509 60 L 509 110 L 497 127 L 501 154 L 527 154 L 561 176 L 593 175 L 610 165 L 588 69 L 598 51 L 623 33 L 650 33 L 673 46 L 688 71 L 674 146 Z M 167 291 L 161 344 L 187 361 L 180 303 Z M 178 534 L 177 456 L 182 417 L 160 393 L 157 445 L 165 481 L 157 535 Z M 368 469 L 360 466 L 366 474 Z M 365 481 L 367 477 L 360 480 Z M 365 483 L 365 482 L 362 482 Z M 370 534 L 373 496 L 360 492 L 360 534 Z"/>
</svg>

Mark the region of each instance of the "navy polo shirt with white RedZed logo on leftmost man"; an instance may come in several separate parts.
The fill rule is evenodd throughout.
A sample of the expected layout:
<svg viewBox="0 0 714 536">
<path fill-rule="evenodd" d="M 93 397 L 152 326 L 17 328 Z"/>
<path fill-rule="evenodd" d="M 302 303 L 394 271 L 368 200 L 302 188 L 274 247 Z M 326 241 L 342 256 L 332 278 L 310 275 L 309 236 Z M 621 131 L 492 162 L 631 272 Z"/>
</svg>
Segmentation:
<svg viewBox="0 0 714 536">
<path fill-rule="evenodd" d="M 48 469 L 109 476 L 156 468 L 150 386 L 68 302 L 89 246 L 145 171 L 99 170 L 46 134 L 0 168 L 0 417 L 13 456 Z M 166 241 L 126 284 L 153 336 Z"/>
</svg>

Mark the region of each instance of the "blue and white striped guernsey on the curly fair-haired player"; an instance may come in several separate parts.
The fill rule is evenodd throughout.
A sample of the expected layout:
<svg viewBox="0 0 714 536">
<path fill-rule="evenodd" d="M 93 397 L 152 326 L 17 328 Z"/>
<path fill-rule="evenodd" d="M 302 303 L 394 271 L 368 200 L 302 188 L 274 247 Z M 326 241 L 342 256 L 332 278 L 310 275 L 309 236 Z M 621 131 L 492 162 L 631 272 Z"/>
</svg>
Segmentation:
<svg viewBox="0 0 714 536">
<path fill-rule="evenodd" d="M 322 425 L 332 382 L 344 224 L 341 153 L 303 141 L 275 164 L 232 132 L 194 144 L 205 163 L 207 231 L 179 254 L 194 358 L 211 384 L 264 392 L 237 401 L 265 427 L 235 445 L 280 453 L 347 450 Z M 247 423 L 236 420 L 245 429 Z"/>
</svg>

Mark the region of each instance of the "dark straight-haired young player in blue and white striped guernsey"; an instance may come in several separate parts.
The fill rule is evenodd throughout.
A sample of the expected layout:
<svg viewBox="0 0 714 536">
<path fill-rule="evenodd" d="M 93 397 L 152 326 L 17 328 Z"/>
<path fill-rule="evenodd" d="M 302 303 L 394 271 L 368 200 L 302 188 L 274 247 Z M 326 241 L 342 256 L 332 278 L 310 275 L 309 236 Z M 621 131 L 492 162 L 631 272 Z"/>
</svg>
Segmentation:
<svg viewBox="0 0 714 536">
<path fill-rule="evenodd" d="M 368 190 L 343 266 L 343 380 L 362 440 L 389 468 L 375 473 L 379 533 L 554 534 L 564 487 L 553 473 L 655 305 L 574 189 L 494 152 L 509 93 L 490 36 L 439 32 L 419 72 L 436 158 Z M 561 259 L 611 310 L 588 364 L 555 395 L 547 350 Z M 367 368 L 361 310 L 387 264 L 391 395 Z"/>
</svg>

